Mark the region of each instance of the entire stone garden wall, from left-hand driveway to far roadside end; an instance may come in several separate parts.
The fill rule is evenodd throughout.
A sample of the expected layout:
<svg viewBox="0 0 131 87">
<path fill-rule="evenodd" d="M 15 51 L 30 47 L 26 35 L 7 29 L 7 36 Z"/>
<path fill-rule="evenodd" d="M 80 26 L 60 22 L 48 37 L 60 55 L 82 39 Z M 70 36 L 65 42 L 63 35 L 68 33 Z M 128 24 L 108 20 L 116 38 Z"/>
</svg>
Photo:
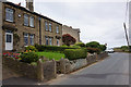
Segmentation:
<svg viewBox="0 0 131 87">
<path fill-rule="evenodd" d="M 39 82 L 49 80 L 57 77 L 57 74 L 69 74 L 73 71 L 93 64 L 96 61 L 104 60 L 108 55 L 107 52 L 100 54 L 88 55 L 85 59 L 78 59 L 69 61 L 68 59 L 61 59 L 60 61 L 45 61 L 39 59 L 37 65 L 31 65 L 24 62 L 19 62 L 11 58 L 3 58 L 2 65 L 12 69 L 15 73 L 23 76 L 38 79 Z"/>
</svg>

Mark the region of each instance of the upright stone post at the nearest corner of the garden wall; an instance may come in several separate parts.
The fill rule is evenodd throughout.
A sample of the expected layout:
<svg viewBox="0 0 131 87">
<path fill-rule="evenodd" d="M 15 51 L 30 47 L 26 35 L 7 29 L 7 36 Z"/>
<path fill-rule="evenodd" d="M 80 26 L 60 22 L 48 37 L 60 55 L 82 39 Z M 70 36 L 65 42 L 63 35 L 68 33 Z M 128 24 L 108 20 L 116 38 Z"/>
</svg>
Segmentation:
<svg viewBox="0 0 131 87">
<path fill-rule="evenodd" d="M 38 65 L 37 65 L 37 79 L 39 82 L 44 80 L 44 69 L 43 69 L 43 62 L 41 59 L 38 60 Z"/>
</svg>

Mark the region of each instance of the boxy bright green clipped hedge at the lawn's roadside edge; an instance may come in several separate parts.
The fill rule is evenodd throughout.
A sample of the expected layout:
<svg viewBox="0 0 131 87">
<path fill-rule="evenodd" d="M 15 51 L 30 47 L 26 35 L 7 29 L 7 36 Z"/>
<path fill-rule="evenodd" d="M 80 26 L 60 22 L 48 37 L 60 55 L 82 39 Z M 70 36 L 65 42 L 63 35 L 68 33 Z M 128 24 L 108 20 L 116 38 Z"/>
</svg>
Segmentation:
<svg viewBox="0 0 131 87">
<path fill-rule="evenodd" d="M 87 52 L 85 49 L 66 49 L 64 55 L 69 60 L 85 59 Z"/>
</svg>

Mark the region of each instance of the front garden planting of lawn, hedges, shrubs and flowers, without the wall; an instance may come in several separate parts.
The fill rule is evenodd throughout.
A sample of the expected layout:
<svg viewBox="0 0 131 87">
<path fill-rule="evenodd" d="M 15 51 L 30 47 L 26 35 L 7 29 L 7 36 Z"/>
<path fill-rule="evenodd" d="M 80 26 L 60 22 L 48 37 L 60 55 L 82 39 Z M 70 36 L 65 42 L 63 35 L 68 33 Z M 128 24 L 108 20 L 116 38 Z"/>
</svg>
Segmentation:
<svg viewBox="0 0 131 87">
<path fill-rule="evenodd" d="M 100 53 L 106 50 L 105 45 L 92 41 L 86 45 L 79 42 L 72 46 L 44 46 L 35 45 L 25 48 L 25 52 L 5 52 L 3 58 L 12 58 L 20 62 L 35 64 L 40 58 L 59 61 L 61 58 L 69 60 L 85 59 L 88 53 Z"/>
</svg>

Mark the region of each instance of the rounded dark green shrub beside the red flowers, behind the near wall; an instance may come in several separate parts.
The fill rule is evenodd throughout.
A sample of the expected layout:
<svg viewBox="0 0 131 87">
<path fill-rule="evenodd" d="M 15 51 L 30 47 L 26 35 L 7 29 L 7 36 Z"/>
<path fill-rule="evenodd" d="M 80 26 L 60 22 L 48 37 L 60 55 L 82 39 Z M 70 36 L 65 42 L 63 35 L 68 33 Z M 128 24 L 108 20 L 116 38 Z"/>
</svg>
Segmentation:
<svg viewBox="0 0 131 87">
<path fill-rule="evenodd" d="M 35 52 L 27 52 L 20 55 L 22 62 L 32 63 L 38 61 L 38 55 Z"/>
</svg>

